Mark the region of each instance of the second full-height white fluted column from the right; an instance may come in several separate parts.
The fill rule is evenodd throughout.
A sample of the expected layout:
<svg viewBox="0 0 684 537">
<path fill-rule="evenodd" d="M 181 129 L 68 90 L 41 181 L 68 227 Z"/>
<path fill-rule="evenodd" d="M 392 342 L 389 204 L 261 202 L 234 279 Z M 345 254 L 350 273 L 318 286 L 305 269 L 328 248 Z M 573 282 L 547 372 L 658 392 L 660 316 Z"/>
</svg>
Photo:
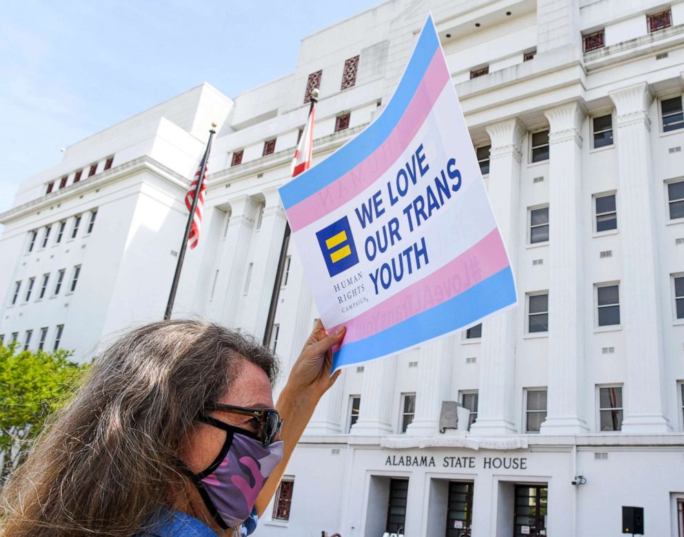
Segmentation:
<svg viewBox="0 0 684 537">
<path fill-rule="evenodd" d="M 549 120 L 549 344 L 545 434 L 580 434 L 584 419 L 584 264 L 580 101 L 546 110 Z"/>
</svg>

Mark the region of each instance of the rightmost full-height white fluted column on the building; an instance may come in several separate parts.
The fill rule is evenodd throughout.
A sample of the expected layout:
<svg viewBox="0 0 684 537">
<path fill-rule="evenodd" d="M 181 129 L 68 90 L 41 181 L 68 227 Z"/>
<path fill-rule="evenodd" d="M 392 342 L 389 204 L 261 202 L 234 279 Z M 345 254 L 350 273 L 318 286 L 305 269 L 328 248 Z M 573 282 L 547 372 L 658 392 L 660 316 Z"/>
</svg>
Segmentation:
<svg viewBox="0 0 684 537">
<path fill-rule="evenodd" d="M 623 388 L 625 433 L 665 433 L 665 353 L 661 334 L 655 208 L 647 84 L 610 93 L 616 107 L 618 226 L 623 253 L 620 320 L 625 334 L 627 376 Z M 619 216 L 622 215 L 622 216 Z M 595 306 L 594 306 L 595 307 Z"/>
</svg>

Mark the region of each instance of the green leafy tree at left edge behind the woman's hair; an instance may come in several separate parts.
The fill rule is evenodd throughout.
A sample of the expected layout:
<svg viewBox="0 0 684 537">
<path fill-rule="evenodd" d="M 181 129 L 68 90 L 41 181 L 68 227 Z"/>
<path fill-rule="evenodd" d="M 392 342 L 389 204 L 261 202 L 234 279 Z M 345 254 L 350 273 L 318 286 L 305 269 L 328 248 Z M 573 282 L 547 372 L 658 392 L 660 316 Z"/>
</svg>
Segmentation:
<svg viewBox="0 0 684 537">
<path fill-rule="evenodd" d="M 88 364 L 69 360 L 69 351 L 19 351 L 0 345 L 1 477 L 17 467 L 46 423 L 73 393 Z"/>
</svg>

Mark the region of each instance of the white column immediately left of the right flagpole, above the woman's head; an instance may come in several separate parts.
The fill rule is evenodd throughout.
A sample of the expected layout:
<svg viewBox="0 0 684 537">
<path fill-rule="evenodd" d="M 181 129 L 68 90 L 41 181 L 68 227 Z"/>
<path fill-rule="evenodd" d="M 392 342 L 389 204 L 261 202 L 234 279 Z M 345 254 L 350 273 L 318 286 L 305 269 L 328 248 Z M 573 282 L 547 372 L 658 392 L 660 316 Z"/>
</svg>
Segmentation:
<svg viewBox="0 0 684 537">
<path fill-rule="evenodd" d="M 285 233 L 285 211 L 280 202 L 278 189 L 268 188 L 263 191 L 265 202 L 261 229 L 257 235 L 257 253 L 252 267 L 252 280 L 247 295 L 245 322 L 243 329 L 252 333 L 257 340 L 263 338 L 271 304 L 273 283 L 278 271 L 278 260 L 283 246 Z"/>
</svg>

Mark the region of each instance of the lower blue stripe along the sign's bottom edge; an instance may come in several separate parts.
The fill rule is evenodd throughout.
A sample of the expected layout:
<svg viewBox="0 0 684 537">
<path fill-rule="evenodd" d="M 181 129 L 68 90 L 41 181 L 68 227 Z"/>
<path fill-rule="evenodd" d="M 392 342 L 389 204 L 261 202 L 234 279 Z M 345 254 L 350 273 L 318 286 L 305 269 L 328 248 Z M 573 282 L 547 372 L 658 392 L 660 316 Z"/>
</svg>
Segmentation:
<svg viewBox="0 0 684 537">
<path fill-rule="evenodd" d="M 428 309 L 364 340 L 345 344 L 334 353 L 332 367 L 361 364 L 467 326 L 487 313 L 516 301 L 510 266 L 439 306 Z"/>
</svg>

